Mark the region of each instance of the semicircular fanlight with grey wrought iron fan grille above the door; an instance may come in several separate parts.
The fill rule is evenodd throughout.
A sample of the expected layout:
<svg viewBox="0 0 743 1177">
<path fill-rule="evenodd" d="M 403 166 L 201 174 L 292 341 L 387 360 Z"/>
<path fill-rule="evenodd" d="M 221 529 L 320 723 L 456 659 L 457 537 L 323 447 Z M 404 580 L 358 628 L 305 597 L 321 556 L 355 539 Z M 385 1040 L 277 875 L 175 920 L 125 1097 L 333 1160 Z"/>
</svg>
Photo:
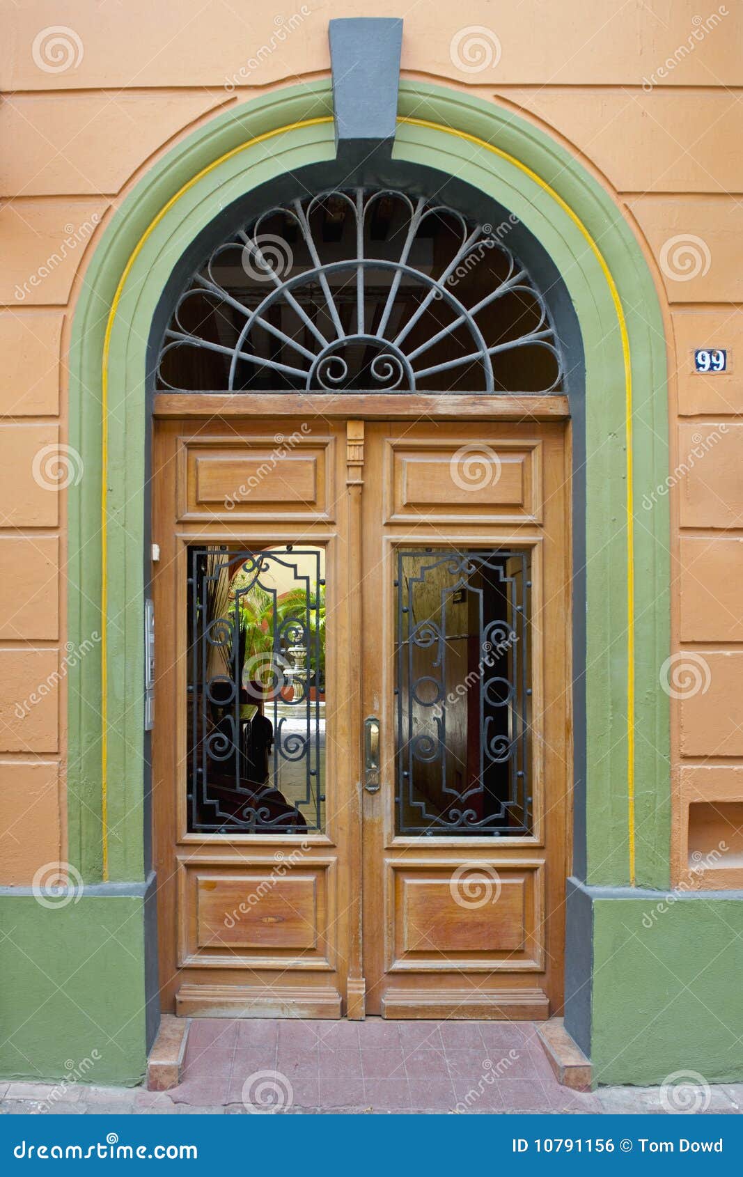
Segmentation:
<svg viewBox="0 0 743 1177">
<path fill-rule="evenodd" d="M 268 208 L 180 294 L 158 387 L 556 392 L 546 302 L 505 244 L 517 224 L 363 187 Z"/>
</svg>

